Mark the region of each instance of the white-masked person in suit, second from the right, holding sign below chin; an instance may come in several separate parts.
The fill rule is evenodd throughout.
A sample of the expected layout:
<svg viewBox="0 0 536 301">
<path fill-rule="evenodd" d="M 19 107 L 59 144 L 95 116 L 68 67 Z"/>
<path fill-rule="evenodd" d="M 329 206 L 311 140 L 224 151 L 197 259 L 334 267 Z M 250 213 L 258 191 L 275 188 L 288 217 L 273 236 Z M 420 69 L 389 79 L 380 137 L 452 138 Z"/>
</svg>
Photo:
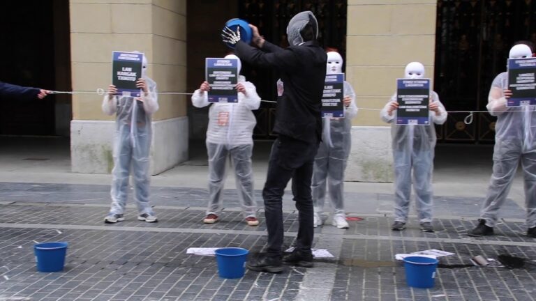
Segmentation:
<svg viewBox="0 0 536 301">
<path fill-rule="evenodd" d="M 424 65 L 408 63 L 405 78 L 424 77 Z M 397 95 L 391 97 L 380 112 L 383 121 L 392 123 L 391 136 L 394 159 L 394 223 L 393 231 L 405 229 L 410 210 L 411 184 L 415 190 L 415 207 L 421 230 L 433 232 L 432 226 L 432 172 L 435 148 L 435 127 L 447 120 L 447 111 L 439 96 L 431 91 L 429 102 L 430 125 L 396 125 Z"/>
</svg>

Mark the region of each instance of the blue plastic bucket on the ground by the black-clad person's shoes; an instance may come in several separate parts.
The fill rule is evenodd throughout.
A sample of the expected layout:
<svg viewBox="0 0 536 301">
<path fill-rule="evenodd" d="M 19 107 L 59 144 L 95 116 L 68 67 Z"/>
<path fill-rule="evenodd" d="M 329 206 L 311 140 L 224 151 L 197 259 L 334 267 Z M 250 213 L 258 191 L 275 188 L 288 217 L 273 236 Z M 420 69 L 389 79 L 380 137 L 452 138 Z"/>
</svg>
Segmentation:
<svg viewBox="0 0 536 301">
<path fill-rule="evenodd" d="M 244 276 L 249 251 L 242 248 L 228 247 L 216 249 L 218 274 L 222 278 L 234 279 Z"/>
</svg>

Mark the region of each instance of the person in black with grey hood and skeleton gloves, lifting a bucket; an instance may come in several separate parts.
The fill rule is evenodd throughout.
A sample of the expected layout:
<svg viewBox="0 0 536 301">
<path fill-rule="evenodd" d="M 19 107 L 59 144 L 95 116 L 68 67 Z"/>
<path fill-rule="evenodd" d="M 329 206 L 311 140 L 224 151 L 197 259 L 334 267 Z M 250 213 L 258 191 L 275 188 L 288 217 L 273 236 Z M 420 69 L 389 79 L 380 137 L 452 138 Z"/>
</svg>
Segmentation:
<svg viewBox="0 0 536 301">
<path fill-rule="evenodd" d="M 234 44 L 236 55 L 260 68 L 273 68 L 285 85 L 278 98 L 274 132 L 278 138 L 271 148 L 269 167 L 262 197 L 268 230 L 265 256 L 248 263 L 248 268 L 263 272 L 282 272 L 282 260 L 303 267 L 313 266 L 313 199 L 311 177 L 313 162 L 322 135 L 321 98 L 326 77 L 326 52 L 318 45 L 318 23 L 310 11 L 298 13 L 287 27 L 290 47 L 282 49 L 267 42 L 253 30 L 251 47 L 240 40 L 239 31 L 226 28 L 225 43 Z M 292 194 L 298 210 L 299 229 L 296 246 L 282 257 L 283 193 L 292 178 Z"/>
</svg>

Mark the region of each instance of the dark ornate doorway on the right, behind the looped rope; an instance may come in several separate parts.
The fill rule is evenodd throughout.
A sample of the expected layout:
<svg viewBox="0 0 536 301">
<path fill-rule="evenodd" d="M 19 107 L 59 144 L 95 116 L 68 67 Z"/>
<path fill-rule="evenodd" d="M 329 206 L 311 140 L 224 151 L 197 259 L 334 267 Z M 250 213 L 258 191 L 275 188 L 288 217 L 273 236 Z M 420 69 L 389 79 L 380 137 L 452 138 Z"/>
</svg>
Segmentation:
<svg viewBox="0 0 536 301">
<path fill-rule="evenodd" d="M 435 34 L 435 91 L 448 111 L 485 111 L 493 78 L 506 71 L 510 47 L 536 42 L 535 0 L 439 0 Z M 496 118 L 452 113 L 442 141 L 491 143 Z"/>
</svg>

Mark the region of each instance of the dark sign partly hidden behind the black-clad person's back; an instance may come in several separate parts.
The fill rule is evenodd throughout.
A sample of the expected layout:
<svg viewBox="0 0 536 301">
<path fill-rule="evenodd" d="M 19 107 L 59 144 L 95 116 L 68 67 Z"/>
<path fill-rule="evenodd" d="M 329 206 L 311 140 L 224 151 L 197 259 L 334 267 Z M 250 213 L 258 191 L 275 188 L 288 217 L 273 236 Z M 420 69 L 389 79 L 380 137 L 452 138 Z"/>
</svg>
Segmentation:
<svg viewBox="0 0 536 301">
<path fill-rule="evenodd" d="M 344 73 L 326 75 L 322 93 L 322 117 L 344 117 Z"/>
</svg>

